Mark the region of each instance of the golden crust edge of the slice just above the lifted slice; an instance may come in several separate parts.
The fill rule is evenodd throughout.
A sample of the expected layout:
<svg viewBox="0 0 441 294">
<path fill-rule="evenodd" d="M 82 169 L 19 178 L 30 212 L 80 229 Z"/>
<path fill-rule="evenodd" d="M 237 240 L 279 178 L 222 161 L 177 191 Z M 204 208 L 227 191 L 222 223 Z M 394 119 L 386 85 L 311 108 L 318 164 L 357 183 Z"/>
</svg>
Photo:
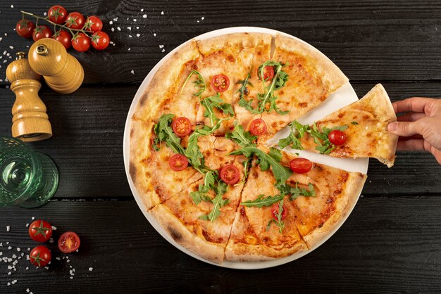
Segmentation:
<svg viewBox="0 0 441 294">
<path fill-rule="evenodd" d="M 296 52 L 309 60 L 309 63 L 312 63 L 316 68 L 316 74 L 323 77 L 323 82 L 328 84 L 330 94 L 349 82 L 349 79 L 333 61 L 304 41 L 278 34 L 275 36 L 274 42 L 276 51 L 280 48 L 284 51 Z"/>
</svg>

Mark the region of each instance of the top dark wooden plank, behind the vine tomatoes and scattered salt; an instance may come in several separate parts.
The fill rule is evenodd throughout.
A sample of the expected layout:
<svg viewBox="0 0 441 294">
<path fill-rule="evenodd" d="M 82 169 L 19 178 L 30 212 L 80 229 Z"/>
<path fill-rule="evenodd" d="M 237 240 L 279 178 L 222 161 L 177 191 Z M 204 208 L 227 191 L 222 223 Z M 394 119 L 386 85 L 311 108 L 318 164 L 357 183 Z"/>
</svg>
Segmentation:
<svg viewBox="0 0 441 294">
<path fill-rule="evenodd" d="M 116 44 L 103 52 L 70 50 L 85 68 L 87 84 L 139 84 L 166 53 L 184 41 L 241 25 L 268 27 L 304 39 L 323 51 L 350 79 L 440 79 L 441 34 L 437 27 L 441 5 L 437 1 L 216 1 L 201 5 L 199 1 L 130 0 L 92 1 L 78 6 L 64 0 L 57 4 L 68 11 L 99 15 L 104 31 Z M 21 18 L 20 10 L 42 15 L 50 6 L 35 7 L 35 1 L 26 0 L 11 8 L 9 2 L 2 1 L 0 54 L 7 51 L 13 55 L 32 44 L 13 31 L 15 20 Z M 111 20 L 113 25 L 109 25 Z M 0 60 L 1 79 L 5 58 Z"/>
</svg>

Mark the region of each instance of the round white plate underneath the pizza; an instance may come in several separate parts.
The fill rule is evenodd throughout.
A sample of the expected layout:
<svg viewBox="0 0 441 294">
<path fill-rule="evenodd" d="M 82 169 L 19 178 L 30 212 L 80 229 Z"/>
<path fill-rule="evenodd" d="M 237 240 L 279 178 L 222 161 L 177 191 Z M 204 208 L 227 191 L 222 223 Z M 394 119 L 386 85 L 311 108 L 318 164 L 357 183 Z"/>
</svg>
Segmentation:
<svg viewBox="0 0 441 294">
<path fill-rule="evenodd" d="M 202 39 L 209 39 L 211 37 L 216 37 L 222 34 L 231 34 L 235 32 L 261 32 L 261 33 L 267 33 L 267 34 L 283 34 L 287 37 L 291 37 L 292 39 L 297 39 L 299 41 L 302 41 L 296 37 L 291 36 L 290 34 L 285 34 L 283 32 L 278 32 L 276 30 L 270 30 L 262 27 L 229 27 L 222 30 L 215 30 L 212 32 L 207 32 L 205 34 L 201 34 L 198 37 L 195 37 L 194 39 L 202 40 Z M 190 40 L 189 40 L 190 41 Z M 207 262 L 209 264 L 214 264 L 219 267 L 228 267 L 231 269 L 263 269 L 266 267 L 275 267 L 280 264 L 285 264 L 287 262 L 292 262 L 293 260 L 297 260 L 297 258 L 302 257 L 308 253 L 311 253 L 312 250 L 318 248 L 321 244 L 323 244 L 330 236 L 333 236 L 337 229 L 340 228 L 340 226 L 343 224 L 343 222 L 347 219 L 349 216 L 349 213 L 344 217 L 343 219 L 340 219 L 339 222 L 334 226 L 334 229 L 330 231 L 327 238 L 324 238 L 323 241 L 316 244 L 313 248 L 310 250 L 301 252 L 301 253 L 295 253 L 293 255 L 290 255 L 288 257 L 280 258 L 277 260 L 270 260 L 265 262 L 230 262 L 225 261 L 223 264 L 215 264 L 213 262 L 209 262 L 208 260 L 204 260 L 204 258 L 199 257 L 198 255 L 195 255 L 194 253 L 191 253 L 186 248 L 182 247 L 178 243 L 176 243 L 173 238 L 171 238 L 166 231 L 162 229 L 162 227 L 156 222 L 156 219 L 151 217 L 147 210 L 144 208 L 144 203 L 142 203 L 142 199 L 137 195 L 137 191 L 135 189 L 135 185 L 133 184 L 133 181 L 129 174 L 129 160 L 130 160 L 130 123 L 131 123 L 131 117 L 133 113 L 135 112 L 135 107 L 137 106 L 139 98 L 141 98 L 144 91 L 147 89 L 147 86 L 150 82 L 150 80 L 153 78 L 156 71 L 163 65 L 163 63 L 170 58 L 170 56 L 175 53 L 175 51 L 178 51 L 182 46 L 187 44 L 189 41 L 185 42 L 184 44 L 181 44 L 180 46 L 176 47 L 173 51 L 168 53 L 164 58 L 162 58 L 159 63 L 155 65 L 155 67 L 149 72 L 149 75 L 145 77 L 144 81 L 142 82 L 141 86 L 139 86 L 139 89 L 137 93 L 135 94 L 135 97 L 133 98 L 132 105 L 130 106 L 130 110 L 127 116 L 127 120 L 125 121 L 125 129 L 124 129 L 124 141 L 123 141 L 123 153 L 124 153 L 124 166 L 125 166 L 125 174 L 127 175 L 130 189 L 132 190 L 133 196 L 135 197 L 135 200 L 139 206 L 139 208 L 144 213 L 147 220 L 150 222 L 151 226 L 156 229 L 156 231 L 163 236 L 168 242 L 170 242 L 172 245 L 174 245 L 176 248 L 181 250 L 184 253 L 187 253 L 187 255 L 190 255 L 198 260 L 201 260 L 203 262 Z M 302 41 L 304 42 L 304 41 Z M 307 44 L 306 42 L 304 42 Z M 309 45 L 309 44 L 308 44 Z M 311 46 L 311 45 L 309 45 Z M 311 46 L 312 47 L 312 46 Z M 313 47 L 312 47 L 313 48 Z M 317 50 L 317 49 L 315 49 Z M 352 103 L 354 101 L 357 101 L 358 98 L 355 94 L 354 89 L 352 89 L 351 84 L 349 82 L 345 84 L 343 87 L 335 91 L 331 96 L 329 96 L 328 99 L 324 103 L 321 104 L 318 108 L 315 108 L 314 110 L 311 110 L 309 113 L 306 113 L 303 117 L 299 119 L 299 122 L 302 122 L 304 124 L 311 123 L 315 120 L 318 120 L 322 118 L 325 115 L 328 115 L 329 113 L 333 113 L 335 110 L 342 108 L 343 106 L 347 106 L 347 104 Z M 285 131 L 285 133 L 284 133 Z M 271 140 L 276 142 L 279 137 L 283 137 L 284 134 L 286 134 L 286 130 L 280 131 L 280 134 L 275 136 L 275 139 Z M 285 135 L 286 136 L 286 135 Z M 271 143 L 271 141 L 268 141 L 268 143 Z M 289 149 L 289 148 L 288 148 Z M 290 152 L 290 151 L 288 151 Z M 309 158 L 314 162 L 323 163 L 325 165 L 330 165 L 333 167 L 340 167 L 342 170 L 347 170 L 349 172 L 362 172 L 366 174 L 368 172 L 368 159 L 362 158 L 362 159 L 350 159 L 350 158 L 331 158 L 327 155 L 321 155 L 316 153 L 309 153 L 307 151 L 296 151 L 300 153 L 302 157 Z M 357 196 L 358 198 L 359 196 Z M 355 202 L 354 202 L 355 206 Z M 351 207 L 350 212 L 352 212 L 352 209 L 354 207 Z"/>
</svg>

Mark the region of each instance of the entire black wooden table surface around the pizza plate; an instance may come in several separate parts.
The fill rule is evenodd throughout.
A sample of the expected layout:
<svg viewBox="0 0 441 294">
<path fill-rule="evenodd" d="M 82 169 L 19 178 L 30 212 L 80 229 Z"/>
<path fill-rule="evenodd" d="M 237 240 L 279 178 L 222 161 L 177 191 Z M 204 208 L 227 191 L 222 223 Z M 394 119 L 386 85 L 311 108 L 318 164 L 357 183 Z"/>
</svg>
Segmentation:
<svg viewBox="0 0 441 294">
<path fill-rule="evenodd" d="M 75 93 L 39 91 L 54 136 L 32 145 L 58 165 L 58 191 L 37 209 L 0 208 L 0 258 L 36 245 L 27 236 L 32 217 L 56 226 L 55 238 L 76 231 L 82 245 L 66 259 L 49 243 L 49 269 L 25 258 L 15 270 L 1 261 L 0 293 L 441 291 L 441 167 L 429 154 L 398 152 L 391 169 L 371 160 L 359 202 L 329 241 L 289 264 L 250 271 L 200 262 L 165 241 L 137 207 L 123 165 L 125 119 L 144 77 L 182 42 L 223 27 L 304 39 L 342 69 L 359 97 L 378 82 L 392 101 L 441 96 L 439 1 L 1 1 L 0 134 L 11 134 L 15 98 L 7 53 L 32 44 L 13 30 L 20 10 L 42 15 L 55 4 L 99 15 L 114 46 L 70 50 L 85 69 Z"/>
</svg>

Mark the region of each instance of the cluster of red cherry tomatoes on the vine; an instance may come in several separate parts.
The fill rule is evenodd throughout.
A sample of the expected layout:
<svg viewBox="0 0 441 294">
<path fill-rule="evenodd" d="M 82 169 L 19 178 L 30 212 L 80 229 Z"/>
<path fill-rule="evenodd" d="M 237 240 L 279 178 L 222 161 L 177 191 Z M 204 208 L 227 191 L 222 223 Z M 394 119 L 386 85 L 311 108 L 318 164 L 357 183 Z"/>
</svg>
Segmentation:
<svg viewBox="0 0 441 294">
<path fill-rule="evenodd" d="M 32 14 L 31 14 L 32 15 Z M 66 49 L 70 46 L 76 51 L 85 52 L 92 45 L 94 49 L 104 50 L 110 43 L 110 38 L 106 32 L 102 32 L 103 22 L 97 16 L 85 18 L 79 12 L 68 13 L 63 6 L 55 5 L 49 8 L 46 18 L 32 15 L 35 18 L 46 20 L 47 22 L 59 27 L 59 30 L 52 32 L 47 25 L 37 25 L 32 21 L 23 18 L 15 25 L 17 34 L 21 37 L 38 41 L 43 38 L 52 38 L 59 41 Z M 66 30 L 62 30 L 62 29 Z M 70 33 L 69 33 L 69 32 Z"/>
</svg>

